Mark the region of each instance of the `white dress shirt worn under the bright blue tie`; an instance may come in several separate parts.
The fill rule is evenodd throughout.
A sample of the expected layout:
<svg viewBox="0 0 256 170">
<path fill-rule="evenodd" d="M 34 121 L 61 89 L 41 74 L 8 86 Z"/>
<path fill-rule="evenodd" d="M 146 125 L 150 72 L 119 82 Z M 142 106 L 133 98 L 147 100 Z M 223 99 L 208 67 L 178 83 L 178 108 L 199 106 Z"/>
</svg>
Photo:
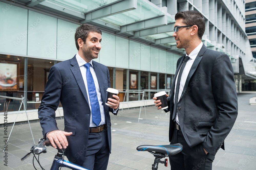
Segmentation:
<svg viewBox="0 0 256 170">
<path fill-rule="evenodd" d="M 78 53 L 76 54 L 76 59 L 77 59 L 78 66 L 80 68 L 80 71 L 81 71 L 81 74 L 83 77 L 83 81 L 84 81 L 84 85 L 86 88 L 87 97 L 88 97 L 88 101 L 89 101 L 89 106 L 90 106 L 90 110 L 91 110 L 90 127 L 95 127 L 96 125 L 94 123 L 92 123 L 92 107 L 91 107 L 90 97 L 89 97 L 89 93 L 88 93 L 87 80 L 86 80 L 86 67 L 84 66 L 84 64 L 86 64 L 87 62 L 84 61 L 84 59 L 82 59 Z M 90 71 L 91 71 L 91 74 L 93 77 L 93 81 L 95 84 L 97 97 L 98 97 L 98 101 L 99 101 L 99 105 L 100 105 L 100 116 L 101 116 L 101 122 L 99 124 L 99 126 L 100 126 L 100 125 L 105 124 L 104 103 L 101 100 L 100 86 L 99 86 L 99 82 L 98 82 L 95 70 L 93 69 L 92 60 L 89 63 L 90 63 Z M 116 110 L 117 109 L 114 109 L 114 113 L 116 113 Z"/>
</svg>

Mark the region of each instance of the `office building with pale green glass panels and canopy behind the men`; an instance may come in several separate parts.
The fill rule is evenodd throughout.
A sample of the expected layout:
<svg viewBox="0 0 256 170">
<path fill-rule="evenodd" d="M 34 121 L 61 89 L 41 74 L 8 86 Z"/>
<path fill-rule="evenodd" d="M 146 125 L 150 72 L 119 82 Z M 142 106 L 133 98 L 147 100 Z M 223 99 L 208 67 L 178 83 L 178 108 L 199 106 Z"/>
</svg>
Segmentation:
<svg viewBox="0 0 256 170">
<path fill-rule="evenodd" d="M 0 95 L 23 96 L 29 119 L 37 119 L 51 66 L 77 53 L 75 30 L 89 23 L 102 30 L 95 61 L 108 66 L 111 87 L 147 90 L 147 99 L 152 99 L 154 90 L 170 88 L 176 62 L 185 54 L 172 37 L 174 16 L 185 10 L 205 17 L 202 42 L 229 56 L 239 93 L 245 79 L 256 79 L 245 6 L 244 0 L 1 0 Z M 11 74 L 8 82 L 5 74 Z M 142 99 L 139 93 L 127 95 L 129 101 Z M 5 99 L 0 101 L 2 110 Z M 15 116 L 19 106 L 12 99 L 8 112 Z"/>
</svg>

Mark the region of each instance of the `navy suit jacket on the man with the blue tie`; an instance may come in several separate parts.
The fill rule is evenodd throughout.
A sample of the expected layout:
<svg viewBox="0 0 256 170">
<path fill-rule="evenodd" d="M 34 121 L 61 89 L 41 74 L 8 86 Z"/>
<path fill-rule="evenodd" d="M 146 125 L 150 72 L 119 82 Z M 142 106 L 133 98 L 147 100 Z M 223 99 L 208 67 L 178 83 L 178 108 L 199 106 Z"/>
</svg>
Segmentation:
<svg viewBox="0 0 256 170">
<path fill-rule="evenodd" d="M 110 87 L 109 70 L 106 66 L 95 61 L 92 61 L 92 64 L 104 104 L 105 124 L 108 134 L 107 145 L 111 151 L 109 111 L 113 113 L 113 109 L 105 104 L 106 89 Z M 69 145 L 65 154 L 70 162 L 82 165 L 87 150 L 91 111 L 76 56 L 70 60 L 57 63 L 50 69 L 45 93 L 38 108 L 38 117 L 43 134 L 58 130 L 55 111 L 58 108 L 59 101 L 63 107 L 65 131 L 72 132 L 72 135 L 67 136 Z"/>
</svg>

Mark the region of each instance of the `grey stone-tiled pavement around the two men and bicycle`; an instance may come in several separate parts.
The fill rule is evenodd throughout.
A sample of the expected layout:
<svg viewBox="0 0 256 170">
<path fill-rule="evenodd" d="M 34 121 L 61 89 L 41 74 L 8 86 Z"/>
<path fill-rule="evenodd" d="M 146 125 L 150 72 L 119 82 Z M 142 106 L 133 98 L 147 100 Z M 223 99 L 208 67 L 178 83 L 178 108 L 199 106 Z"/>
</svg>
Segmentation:
<svg viewBox="0 0 256 170">
<path fill-rule="evenodd" d="M 256 96 L 251 93 L 238 94 L 238 117 L 230 134 L 225 140 L 226 150 L 220 149 L 213 162 L 213 169 L 256 169 L 256 106 L 249 104 L 249 98 Z M 155 106 L 140 109 L 119 111 L 117 116 L 111 115 L 112 153 L 109 158 L 108 170 L 150 170 L 154 156 L 148 152 L 138 152 L 139 145 L 166 145 L 168 142 L 169 113 L 157 110 Z M 63 120 L 57 120 L 58 127 L 63 129 Z M 41 138 L 39 123 L 31 123 L 35 141 Z M 8 127 L 8 131 L 12 126 Z M 30 150 L 33 139 L 28 124 L 15 125 L 8 142 L 8 167 L 4 166 L 4 128 L 0 128 L 0 169 L 1 170 L 32 170 L 33 156 L 21 161 Z M 40 155 L 40 163 L 50 169 L 56 149 L 47 148 L 47 153 Z M 37 167 L 39 165 L 35 164 Z M 39 169 L 39 168 L 37 168 Z M 65 168 L 61 168 L 65 169 Z M 170 169 L 160 164 L 159 170 Z"/>
</svg>

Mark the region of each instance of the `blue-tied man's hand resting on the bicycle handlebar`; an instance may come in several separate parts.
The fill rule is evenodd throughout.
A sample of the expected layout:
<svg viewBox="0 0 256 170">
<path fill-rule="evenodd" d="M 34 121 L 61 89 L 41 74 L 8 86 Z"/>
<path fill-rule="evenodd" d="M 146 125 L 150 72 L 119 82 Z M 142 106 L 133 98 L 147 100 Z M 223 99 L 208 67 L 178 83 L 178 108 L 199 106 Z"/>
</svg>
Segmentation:
<svg viewBox="0 0 256 170">
<path fill-rule="evenodd" d="M 62 146 L 64 149 L 67 148 L 68 146 L 68 141 L 66 136 L 72 135 L 72 132 L 64 132 L 61 130 L 53 130 L 51 132 L 49 132 L 46 137 L 50 140 L 51 145 L 57 149 L 57 146 L 62 149 Z M 57 144 L 57 146 L 55 145 L 55 143 Z M 62 146 L 61 146 L 62 145 Z"/>
</svg>

